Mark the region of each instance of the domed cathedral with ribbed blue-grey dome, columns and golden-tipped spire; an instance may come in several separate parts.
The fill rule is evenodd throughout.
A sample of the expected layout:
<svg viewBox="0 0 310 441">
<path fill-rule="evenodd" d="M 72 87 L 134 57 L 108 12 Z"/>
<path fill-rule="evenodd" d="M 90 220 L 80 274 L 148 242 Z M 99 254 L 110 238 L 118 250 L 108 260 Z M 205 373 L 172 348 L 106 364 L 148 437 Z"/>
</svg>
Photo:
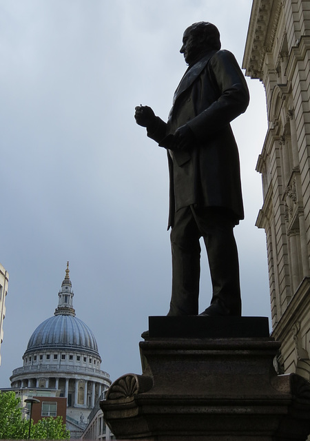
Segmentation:
<svg viewBox="0 0 310 441">
<path fill-rule="evenodd" d="M 54 316 L 34 330 L 23 354 L 23 367 L 14 369 L 10 381 L 12 389 L 27 390 L 30 396 L 67 398 L 67 427 L 79 438 L 111 381 L 101 371 L 94 334 L 75 316 L 73 296 L 67 265 Z"/>
</svg>

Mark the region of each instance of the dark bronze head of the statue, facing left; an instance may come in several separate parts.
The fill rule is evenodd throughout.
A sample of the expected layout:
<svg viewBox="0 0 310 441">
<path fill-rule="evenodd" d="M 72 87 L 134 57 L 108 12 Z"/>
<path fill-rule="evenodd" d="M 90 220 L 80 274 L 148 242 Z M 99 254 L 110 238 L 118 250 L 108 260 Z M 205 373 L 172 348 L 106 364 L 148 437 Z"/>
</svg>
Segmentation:
<svg viewBox="0 0 310 441">
<path fill-rule="evenodd" d="M 192 64 L 203 57 L 208 50 L 220 50 L 220 32 L 207 21 L 199 21 L 187 28 L 183 34 L 181 54 L 187 64 Z"/>
</svg>

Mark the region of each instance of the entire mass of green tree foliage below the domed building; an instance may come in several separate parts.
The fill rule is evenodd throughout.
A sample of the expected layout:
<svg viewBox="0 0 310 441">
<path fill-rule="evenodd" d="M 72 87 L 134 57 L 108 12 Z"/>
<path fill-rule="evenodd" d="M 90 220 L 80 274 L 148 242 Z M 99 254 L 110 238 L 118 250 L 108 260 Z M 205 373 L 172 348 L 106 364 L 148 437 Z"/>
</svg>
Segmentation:
<svg viewBox="0 0 310 441">
<path fill-rule="evenodd" d="M 13 391 L 0 391 L 0 440 L 28 439 L 29 420 L 22 415 L 20 398 Z M 63 418 L 43 418 L 37 424 L 31 421 L 30 439 L 32 440 L 68 440 L 70 431 L 65 428 Z"/>
</svg>

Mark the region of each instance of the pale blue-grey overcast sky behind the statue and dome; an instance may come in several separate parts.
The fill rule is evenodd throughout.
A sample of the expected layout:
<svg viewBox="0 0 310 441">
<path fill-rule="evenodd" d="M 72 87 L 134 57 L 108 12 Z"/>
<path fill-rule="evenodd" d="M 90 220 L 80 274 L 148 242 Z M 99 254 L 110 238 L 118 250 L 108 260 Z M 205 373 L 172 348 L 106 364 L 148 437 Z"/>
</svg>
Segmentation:
<svg viewBox="0 0 310 441">
<path fill-rule="evenodd" d="M 240 63 L 251 0 L 0 0 L 0 262 L 9 271 L 0 387 L 34 329 L 54 314 L 70 261 L 76 316 L 112 380 L 141 373 L 138 342 L 171 292 L 165 150 L 134 121 L 167 119 L 186 65 L 183 31 L 211 21 Z M 243 315 L 270 316 L 255 171 L 265 92 L 233 123 L 245 220 L 236 227 Z M 211 299 L 203 247 L 200 310 Z"/>
</svg>

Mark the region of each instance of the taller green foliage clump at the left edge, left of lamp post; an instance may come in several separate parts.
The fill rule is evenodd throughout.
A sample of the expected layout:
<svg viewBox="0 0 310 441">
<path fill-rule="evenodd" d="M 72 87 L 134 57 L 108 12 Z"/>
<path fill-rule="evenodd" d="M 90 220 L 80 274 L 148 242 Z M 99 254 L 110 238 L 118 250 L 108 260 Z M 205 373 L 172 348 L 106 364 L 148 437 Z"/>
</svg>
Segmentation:
<svg viewBox="0 0 310 441">
<path fill-rule="evenodd" d="M 29 422 L 23 419 L 20 402 L 13 391 L 0 391 L 0 440 L 28 438 Z"/>
</svg>

